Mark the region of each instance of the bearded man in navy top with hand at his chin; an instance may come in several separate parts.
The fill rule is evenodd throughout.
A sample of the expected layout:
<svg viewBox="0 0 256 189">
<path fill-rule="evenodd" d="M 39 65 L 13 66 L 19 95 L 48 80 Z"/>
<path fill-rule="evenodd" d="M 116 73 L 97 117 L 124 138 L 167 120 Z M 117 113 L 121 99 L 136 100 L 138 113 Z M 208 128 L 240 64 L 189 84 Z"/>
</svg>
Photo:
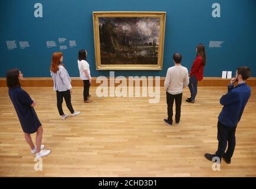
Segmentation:
<svg viewBox="0 0 256 189">
<path fill-rule="evenodd" d="M 204 154 L 206 159 L 212 161 L 214 157 L 219 157 L 220 161 L 223 158 L 226 163 L 231 163 L 236 144 L 236 126 L 251 96 L 251 88 L 246 83 L 250 76 L 251 69 L 249 67 L 239 67 L 236 70 L 236 76 L 231 79 L 228 85 L 228 93 L 220 98 L 220 104 L 223 105 L 223 108 L 217 123 L 219 145 L 215 154 Z M 237 86 L 234 86 L 235 82 L 238 82 Z M 225 152 L 227 144 L 228 150 Z"/>
</svg>

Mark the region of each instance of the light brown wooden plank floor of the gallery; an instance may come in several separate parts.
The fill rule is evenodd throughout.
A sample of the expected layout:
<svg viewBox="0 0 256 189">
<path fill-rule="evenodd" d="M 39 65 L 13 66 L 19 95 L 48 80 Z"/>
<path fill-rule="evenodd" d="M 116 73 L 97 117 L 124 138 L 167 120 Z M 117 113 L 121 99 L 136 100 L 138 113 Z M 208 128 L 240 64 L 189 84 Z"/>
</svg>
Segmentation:
<svg viewBox="0 0 256 189">
<path fill-rule="evenodd" d="M 199 87 L 194 104 L 185 102 L 186 88 L 180 125 L 172 127 L 163 122 L 163 87 L 158 104 L 150 104 L 151 97 L 97 97 L 96 87 L 90 92 L 94 101 L 83 103 L 82 87 L 73 87 L 72 104 L 81 115 L 64 121 L 52 87 L 24 89 L 37 100 L 43 144 L 52 154 L 43 158 L 43 171 L 34 171 L 7 88 L 0 87 L 1 177 L 256 177 L 256 87 L 236 130 L 232 163 L 223 161 L 221 171 L 212 170 L 204 153 L 216 151 L 219 99 L 226 87 Z"/>
</svg>

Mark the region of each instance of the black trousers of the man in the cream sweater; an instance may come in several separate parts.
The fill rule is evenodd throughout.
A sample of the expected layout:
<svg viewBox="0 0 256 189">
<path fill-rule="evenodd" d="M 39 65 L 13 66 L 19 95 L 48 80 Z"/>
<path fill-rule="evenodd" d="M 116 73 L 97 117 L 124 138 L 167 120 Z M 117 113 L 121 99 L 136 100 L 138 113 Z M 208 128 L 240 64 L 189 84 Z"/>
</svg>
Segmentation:
<svg viewBox="0 0 256 189">
<path fill-rule="evenodd" d="M 168 112 L 168 121 L 172 123 L 172 107 L 175 100 L 175 121 L 180 122 L 181 116 L 181 102 L 182 102 L 182 94 L 170 94 L 167 92 L 167 112 Z"/>
</svg>

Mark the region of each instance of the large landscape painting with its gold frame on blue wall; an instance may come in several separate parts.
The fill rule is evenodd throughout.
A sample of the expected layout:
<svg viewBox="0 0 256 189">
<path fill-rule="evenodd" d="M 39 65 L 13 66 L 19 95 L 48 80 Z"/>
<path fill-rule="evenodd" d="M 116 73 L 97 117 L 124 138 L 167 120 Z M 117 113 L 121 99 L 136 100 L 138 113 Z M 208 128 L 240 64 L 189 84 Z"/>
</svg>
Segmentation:
<svg viewBox="0 0 256 189">
<path fill-rule="evenodd" d="M 92 12 L 97 70 L 162 70 L 166 12 Z"/>
</svg>

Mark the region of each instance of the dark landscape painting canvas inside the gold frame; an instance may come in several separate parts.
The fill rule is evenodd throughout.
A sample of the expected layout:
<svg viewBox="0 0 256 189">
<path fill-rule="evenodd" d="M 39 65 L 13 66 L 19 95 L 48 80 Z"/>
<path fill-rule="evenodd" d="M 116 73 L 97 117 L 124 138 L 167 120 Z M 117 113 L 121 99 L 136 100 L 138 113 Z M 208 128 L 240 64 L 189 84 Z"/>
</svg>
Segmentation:
<svg viewBox="0 0 256 189">
<path fill-rule="evenodd" d="M 160 18 L 101 17 L 101 64 L 158 64 Z"/>
</svg>

